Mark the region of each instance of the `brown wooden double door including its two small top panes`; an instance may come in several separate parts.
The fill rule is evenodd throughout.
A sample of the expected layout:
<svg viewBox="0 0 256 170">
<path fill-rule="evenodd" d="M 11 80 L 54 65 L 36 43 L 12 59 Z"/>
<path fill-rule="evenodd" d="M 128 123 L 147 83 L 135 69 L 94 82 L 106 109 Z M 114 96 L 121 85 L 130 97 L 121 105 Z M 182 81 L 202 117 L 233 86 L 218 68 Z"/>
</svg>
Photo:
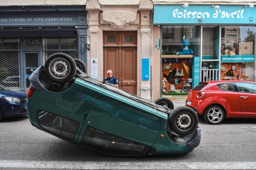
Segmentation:
<svg viewBox="0 0 256 170">
<path fill-rule="evenodd" d="M 103 32 L 103 76 L 112 70 L 119 89 L 137 95 L 137 32 Z"/>
</svg>

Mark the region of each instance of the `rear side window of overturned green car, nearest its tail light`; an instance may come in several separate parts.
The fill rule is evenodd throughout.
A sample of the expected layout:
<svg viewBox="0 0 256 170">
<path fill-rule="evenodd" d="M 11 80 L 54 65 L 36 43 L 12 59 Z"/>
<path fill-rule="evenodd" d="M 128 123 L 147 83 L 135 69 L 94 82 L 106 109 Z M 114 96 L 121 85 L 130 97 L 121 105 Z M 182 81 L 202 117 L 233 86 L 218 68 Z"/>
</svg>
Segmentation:
<svg viewBox="0 0 256 170">
<path fill-rule="evenodd" d="M 45 130 L 71 142 L 74 141 L 79 122 L 44 110 L 37 110 L 37 118 L 39 125 Z"/>
</svg>

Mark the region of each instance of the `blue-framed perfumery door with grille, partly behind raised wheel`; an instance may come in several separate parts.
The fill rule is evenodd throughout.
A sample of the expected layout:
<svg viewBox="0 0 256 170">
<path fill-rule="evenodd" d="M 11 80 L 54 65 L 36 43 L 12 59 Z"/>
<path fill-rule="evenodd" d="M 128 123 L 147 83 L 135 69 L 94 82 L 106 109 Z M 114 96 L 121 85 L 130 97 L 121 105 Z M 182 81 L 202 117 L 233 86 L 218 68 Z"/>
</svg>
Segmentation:
<svg viewBox="0 0 256 170">
<path fill-rule="evenodd" d="M 29 76 L 39 67 L 39 52 L 23 52 L 24 74 L 21 75 L 24 93 L 27 93 L 30 86 Z"/>
</svg>

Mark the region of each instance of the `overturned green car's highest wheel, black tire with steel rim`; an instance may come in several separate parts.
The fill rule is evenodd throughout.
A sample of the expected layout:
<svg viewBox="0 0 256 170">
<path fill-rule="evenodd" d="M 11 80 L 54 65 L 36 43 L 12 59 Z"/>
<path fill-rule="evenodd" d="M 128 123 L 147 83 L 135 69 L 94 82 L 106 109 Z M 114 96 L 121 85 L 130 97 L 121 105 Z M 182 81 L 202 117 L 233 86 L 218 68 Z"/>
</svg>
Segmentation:
<svg viewBox="0 0 256 170">
<path fill-rule="evenodd" d="M 76 74 L 76 63 L 65 53 L 52 54 L 44 63 L 44 73 L 54 83 L 66 83 Z"/>
</svg>

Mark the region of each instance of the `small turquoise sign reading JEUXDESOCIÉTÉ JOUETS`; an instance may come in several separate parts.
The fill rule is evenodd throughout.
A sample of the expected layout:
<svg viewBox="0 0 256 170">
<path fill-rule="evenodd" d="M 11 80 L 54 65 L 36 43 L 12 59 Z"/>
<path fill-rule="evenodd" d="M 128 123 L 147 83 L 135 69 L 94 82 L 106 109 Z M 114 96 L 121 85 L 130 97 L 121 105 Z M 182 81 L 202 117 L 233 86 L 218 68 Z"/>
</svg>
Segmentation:
<svg viewBox="0 0 256 170">
<path fill-rule="evenodd" d="M 254 62 L 254 55 L 223 55 L 221 62 Z"/>
</svg>

